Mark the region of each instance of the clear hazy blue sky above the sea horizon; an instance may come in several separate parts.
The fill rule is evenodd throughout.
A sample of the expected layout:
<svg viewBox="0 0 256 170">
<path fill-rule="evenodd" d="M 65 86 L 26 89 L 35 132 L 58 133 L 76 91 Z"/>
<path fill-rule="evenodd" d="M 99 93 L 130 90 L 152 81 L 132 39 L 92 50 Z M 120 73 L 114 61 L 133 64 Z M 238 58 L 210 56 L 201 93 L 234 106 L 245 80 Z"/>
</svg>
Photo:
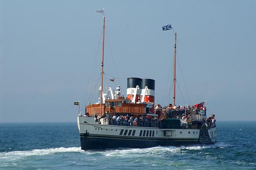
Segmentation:
<svg viewBox="0 0 256 170">
<path fill-rule="evenodd" d="M 97 102 L 101 8 L 105 85 L 126 95 L 126 78 L 155 79 L 155 100 L 172 103 L 171 23 L 177 105 L 207 100 L 217 120 L 256 120 L 256 1 L 0 0 L 0 122 L 76 121 L 73 101 Z"/>
</svg>

